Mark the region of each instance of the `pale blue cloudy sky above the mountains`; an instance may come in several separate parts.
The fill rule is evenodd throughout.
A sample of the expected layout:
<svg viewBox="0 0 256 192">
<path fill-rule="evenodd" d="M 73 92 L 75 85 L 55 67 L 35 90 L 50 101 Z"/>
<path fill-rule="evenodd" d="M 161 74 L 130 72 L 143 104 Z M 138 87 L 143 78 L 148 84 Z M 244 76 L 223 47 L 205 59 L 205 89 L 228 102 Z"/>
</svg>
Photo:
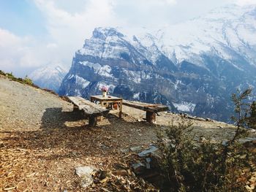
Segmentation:
<svg viewBox="0 0 256 192">
<path fill-rule="evenodd" d="M 162 28 L 226 4 L 256 0 L 0 0 L 0 70 L 69 69 L 96 27 Z"/>
</svg>

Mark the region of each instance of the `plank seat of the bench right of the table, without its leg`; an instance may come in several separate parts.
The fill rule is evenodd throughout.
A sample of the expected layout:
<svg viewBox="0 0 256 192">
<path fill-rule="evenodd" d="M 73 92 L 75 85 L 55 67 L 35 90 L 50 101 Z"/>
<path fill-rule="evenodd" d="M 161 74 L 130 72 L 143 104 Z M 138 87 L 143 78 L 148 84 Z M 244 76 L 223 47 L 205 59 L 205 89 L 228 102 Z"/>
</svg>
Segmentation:
<svg viewBox="0 0 256 192">
<path fill-rule="evenodd" d="M 162 112 L 167 111 L 169 108 L 162 104 L 148 104 L 142 103 L 139 101 L 127 101 L 123 100 L 123 104 L 129 107 L 134 107 L 139 110 L 148 111 L 148 112 Z"/>
</svg>

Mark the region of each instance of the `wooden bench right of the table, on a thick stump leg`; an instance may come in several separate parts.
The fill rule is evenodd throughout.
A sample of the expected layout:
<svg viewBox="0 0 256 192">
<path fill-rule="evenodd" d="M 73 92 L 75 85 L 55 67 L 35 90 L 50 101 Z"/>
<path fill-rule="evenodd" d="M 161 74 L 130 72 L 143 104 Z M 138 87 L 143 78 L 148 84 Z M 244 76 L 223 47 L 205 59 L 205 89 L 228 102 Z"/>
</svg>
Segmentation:
<svg viewBox="0 0 256 192">
<path fill-rule="evenodd" d="M 162 104 L 148 104 L 148 103 L 142 103 L 139 101 L 127 101 L 127 100 L 123 100 L 123 104 L 129 107 L 134 107 L 136 109 L 146 111 L 146 121 L 148 121 L 149 123 L 154 123 L 154 121 L 156 120 L 157 112 L 169 110 L 169 107 Z"/>
</svg>

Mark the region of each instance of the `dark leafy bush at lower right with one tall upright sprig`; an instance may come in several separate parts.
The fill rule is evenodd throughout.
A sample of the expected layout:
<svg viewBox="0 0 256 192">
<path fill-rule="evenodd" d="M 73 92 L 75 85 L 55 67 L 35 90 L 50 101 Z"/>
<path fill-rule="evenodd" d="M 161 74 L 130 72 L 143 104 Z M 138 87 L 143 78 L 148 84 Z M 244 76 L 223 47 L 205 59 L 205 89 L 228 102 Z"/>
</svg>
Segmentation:
<svg viewBox="0 0 256 192">
<path fill-rule="evenodd" d="M 173 123 L 158 134 L 163 158 L 162 172 L 169 183 L 167 191 L 244 191 L 249 175 L 242 169 L 249 166 L 250 153 L 238 142 L 244 137 L 246 112 L 249 105 L 244 102 L 251 89 L 233 94 L 235 104 L 233 120 L 236 133 L 226 142 L 212 142 L 206 139 L 195 142 L 191 123 Z M 167 137 L 169 142 L 162 142 Z M 166 140 L 166 138 L 164 139 Z"/>
</svg>

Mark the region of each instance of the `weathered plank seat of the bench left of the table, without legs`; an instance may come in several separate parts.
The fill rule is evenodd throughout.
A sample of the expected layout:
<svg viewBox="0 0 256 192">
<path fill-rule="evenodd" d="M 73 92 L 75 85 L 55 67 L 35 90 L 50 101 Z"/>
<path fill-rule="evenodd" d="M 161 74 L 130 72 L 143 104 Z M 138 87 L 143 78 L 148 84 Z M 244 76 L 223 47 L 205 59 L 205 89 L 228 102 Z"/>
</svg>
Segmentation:
<svg viewBox="0 0 256 192">
<path fill-rule="evenodd" d="M 68 96 L 67 99 L 77 106 L 79 110 L 83 110 L 83 112 L 89 116 L 105 115 L 109 112 L 108 109 L 100 107 L 99 105 L 83 99 L 80 96 Z"/>
</svg>

